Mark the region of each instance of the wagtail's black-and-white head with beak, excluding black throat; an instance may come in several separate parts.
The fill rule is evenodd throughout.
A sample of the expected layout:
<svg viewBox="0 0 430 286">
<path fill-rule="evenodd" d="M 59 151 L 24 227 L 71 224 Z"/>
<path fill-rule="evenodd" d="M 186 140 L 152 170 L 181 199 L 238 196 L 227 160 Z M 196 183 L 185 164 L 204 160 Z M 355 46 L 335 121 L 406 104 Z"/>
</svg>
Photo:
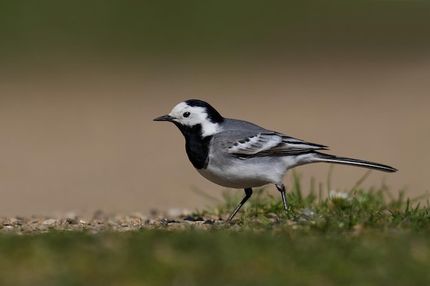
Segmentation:
<svg viewBox="0 0 430 286">
<path fill-rule="evenodd" d="M 205 137 L 218 133 L 219 123 L 224 118 L 207 102 L 190 99 L 177 104 L 168 115 L 157 117 L 154 121 L 170 121 L 181 131 L 197 128 Z"/>
</svg>

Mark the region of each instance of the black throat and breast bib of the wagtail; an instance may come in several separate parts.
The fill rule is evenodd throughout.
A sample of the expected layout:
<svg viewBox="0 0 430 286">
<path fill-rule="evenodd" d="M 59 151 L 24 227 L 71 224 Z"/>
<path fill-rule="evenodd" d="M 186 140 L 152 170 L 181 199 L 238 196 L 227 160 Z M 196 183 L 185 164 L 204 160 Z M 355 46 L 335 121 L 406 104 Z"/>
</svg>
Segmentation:
<svg viewBox="0 0 430 286">
<path fill-rule="evenodd" d="M 201 125 L 183 126 L 174 122 L 185 137 L 185 150 L 187 151 L 188 159 L 196 169 L 205 169 L 209 163 L 209 144 L 212 136 L 203 137 Z"/>
</svg>

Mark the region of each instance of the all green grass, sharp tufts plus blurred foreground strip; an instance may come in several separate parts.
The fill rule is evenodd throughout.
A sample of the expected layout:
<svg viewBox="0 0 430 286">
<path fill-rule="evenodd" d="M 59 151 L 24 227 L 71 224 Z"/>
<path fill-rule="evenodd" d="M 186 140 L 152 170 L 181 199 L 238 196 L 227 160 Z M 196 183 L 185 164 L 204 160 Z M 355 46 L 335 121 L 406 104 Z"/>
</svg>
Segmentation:
<svg viewBox="0 0 430 286">
<path fill-rule="evenodd" d="M 428 203 L 360 181 L 348 197 L 320 189 L 304 195 L 296 174 L 288 214 L 259 190 L 235 222 L 205 230 L 0 233 L 0 285 L 429 285 Z"/>
</svg>

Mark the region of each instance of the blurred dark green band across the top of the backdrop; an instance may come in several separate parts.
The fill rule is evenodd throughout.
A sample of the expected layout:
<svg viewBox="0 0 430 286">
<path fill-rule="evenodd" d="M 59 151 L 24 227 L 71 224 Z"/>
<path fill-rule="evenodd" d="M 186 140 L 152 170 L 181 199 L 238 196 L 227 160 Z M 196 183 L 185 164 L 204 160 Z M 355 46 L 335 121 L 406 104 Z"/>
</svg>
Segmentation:
<svg viewBox="0 0 430 286">
<path fill-rule="evenodd" d="M 430 51 L 430 1 L 2 1 L 0 58 Z"/>
</svg>

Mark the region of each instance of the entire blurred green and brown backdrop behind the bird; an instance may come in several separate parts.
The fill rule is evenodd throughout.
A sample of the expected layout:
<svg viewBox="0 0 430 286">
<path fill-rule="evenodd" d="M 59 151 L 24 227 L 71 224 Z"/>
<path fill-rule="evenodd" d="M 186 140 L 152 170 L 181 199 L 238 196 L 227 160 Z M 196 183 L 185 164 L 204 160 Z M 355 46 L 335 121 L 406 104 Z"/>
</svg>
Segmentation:
<svg viewBox="0 0 430 286">
<path fill-rule="evenodd" d="M 194 190 L 225 189 L 152 121 L 192 98 L 399 169 L 364 186 L 426 194 L 429 15 L 429 1 L 1 1 L 0 215 L 215 206 Z M 296 171 L 308 189 L 329 169 Z M 364 173 L 337 165 L 332 188 Z"/>
</svg>

